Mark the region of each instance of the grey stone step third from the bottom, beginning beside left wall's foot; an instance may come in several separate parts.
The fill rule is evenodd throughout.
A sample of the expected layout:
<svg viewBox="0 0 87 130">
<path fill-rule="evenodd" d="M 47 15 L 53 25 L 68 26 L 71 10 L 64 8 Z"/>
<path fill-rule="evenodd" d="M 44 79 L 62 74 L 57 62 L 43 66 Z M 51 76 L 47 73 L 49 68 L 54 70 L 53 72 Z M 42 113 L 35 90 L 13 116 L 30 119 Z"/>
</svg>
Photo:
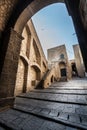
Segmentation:
<svg viewBox="0 0 87 130">
<path fill-rule="evenodd" d="M 61 102 L 69 104 L 87 105 L 87 95 L 70 95 L 70 94 L 53 94 L 53 93 L 35 93 L 29 92 L 27 94 L 21 94 L 17 97 L 50 101 L 50 102 Z"/>
</svg>

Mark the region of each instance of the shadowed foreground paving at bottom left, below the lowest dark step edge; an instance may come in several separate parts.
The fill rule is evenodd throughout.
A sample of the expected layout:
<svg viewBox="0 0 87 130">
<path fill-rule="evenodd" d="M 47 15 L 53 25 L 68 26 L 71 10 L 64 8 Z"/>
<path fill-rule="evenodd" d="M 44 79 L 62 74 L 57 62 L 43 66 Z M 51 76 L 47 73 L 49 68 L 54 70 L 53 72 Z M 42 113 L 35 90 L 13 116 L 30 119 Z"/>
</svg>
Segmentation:
<svg viewBox="0 0 87 130">
<path fill-rule="evenodd" d="M 58 123 L 47 117 L 41 117 L 21 109 L 9 109 L 0 113 L 0 124 L 6 128 L 0 130 L 78 130 Z M 79 129 L 80 130 L 80 129 Z"/>
</svg>

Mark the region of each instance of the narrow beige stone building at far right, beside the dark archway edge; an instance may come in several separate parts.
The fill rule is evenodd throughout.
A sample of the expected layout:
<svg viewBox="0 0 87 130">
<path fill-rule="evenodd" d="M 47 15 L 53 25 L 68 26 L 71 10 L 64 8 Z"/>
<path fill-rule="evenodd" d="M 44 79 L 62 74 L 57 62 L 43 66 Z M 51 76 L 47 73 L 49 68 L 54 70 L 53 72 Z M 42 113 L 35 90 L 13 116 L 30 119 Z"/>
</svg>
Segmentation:
<svg viewBox="0 0 87 130">
<path fill-rule="evenodd" d="M 81 54 L 81 50 L 78 44 L 73 45 L 74 49 L 74 56 L 75 56 L 75 64 L 77 68 L 77 74 L 79 77 L 84 77 L 85 76 L 85 67 L 83 63 L 83 58 Z"/>
</svg>

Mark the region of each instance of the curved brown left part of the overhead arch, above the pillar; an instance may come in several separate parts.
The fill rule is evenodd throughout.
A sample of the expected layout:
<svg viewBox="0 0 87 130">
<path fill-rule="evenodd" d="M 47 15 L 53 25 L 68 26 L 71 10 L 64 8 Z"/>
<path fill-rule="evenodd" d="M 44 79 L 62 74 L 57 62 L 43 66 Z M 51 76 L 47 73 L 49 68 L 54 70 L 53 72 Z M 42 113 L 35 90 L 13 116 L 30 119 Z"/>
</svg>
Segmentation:
<svg viewBox="0 0 87 130">
<path fill-rule="evenodd" d="M 45 2 L 44 0 L 31 0 L 31 2 L 30 0 L 23 0 L 21 1 L 21 3 L 19 2 L 17 4 L 18 9 L 16 9 L 16 11 L 13 12 L 12 15 L 13 21 L 11 18 L 11 22 L 9 23 L 12 23 L 12 26 L 14 26 L 15 31 L 17 31 L 18 33 L 22 33 L 25 24 L 36 12 L 50 4 L 58 2 L 64 3 L 64 0 L 46 0 Z"/>
</svg>

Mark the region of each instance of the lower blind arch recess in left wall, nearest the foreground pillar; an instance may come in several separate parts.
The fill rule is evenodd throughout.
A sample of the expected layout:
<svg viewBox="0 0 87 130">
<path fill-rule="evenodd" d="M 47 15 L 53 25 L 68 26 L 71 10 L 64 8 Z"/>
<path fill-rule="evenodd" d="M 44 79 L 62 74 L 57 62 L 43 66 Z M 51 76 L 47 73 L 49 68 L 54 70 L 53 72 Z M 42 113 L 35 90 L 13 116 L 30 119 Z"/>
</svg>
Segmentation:
<svg viewBox="0 0 87 130">
<path fill-rule="evenodd" d="M 14 91 L 15 95 L 26 92 L 27 75 L 28 75 L 28 62 L 26 61 L 26 59 L 23 56 L 20 56 L 20 59 L 18 62 L 15 91 Z"/>
</svg>

